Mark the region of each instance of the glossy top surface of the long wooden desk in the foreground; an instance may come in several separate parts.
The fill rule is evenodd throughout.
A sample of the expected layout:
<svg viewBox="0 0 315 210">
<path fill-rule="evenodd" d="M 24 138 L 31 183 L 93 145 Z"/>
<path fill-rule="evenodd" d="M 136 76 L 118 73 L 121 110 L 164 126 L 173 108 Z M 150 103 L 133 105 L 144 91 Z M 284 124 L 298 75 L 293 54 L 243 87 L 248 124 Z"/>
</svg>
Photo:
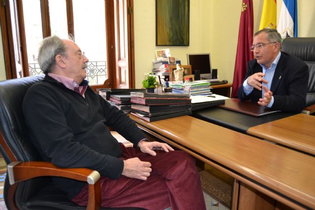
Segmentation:
<svg viewBox="0 0 315 210">
<path fill-rule="evenodd" d="M 315 157 L 190 116 L 138 124 L 289 198 L 315 208 Z"/>
</svg>

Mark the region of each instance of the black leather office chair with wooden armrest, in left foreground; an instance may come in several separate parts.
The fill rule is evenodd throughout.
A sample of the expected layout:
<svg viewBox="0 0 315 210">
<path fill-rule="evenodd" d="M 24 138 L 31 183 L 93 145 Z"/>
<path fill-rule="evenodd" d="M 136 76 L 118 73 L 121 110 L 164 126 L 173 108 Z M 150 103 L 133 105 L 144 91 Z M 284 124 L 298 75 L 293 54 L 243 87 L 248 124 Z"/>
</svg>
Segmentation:
<svg viewBox="0 0 315 210">
<path fill-rule="evenodd" d="M 86 168 L 58 168 L 43 162 L 28 136 L 22 101 L 29 87 L 43 75 L 0 82 L 0 152 L 8 165 L 4 200 L 9 210 L 115 210 L 100 208 L 100 175 Z M 37 109 L 39 107 L 34 107 Z M 34 116 L 35 118 L 36 116 Z M 58 189 L 51 176 L 89 183 L 89 202 L 80 207 Z M 117 208 L 118 209 L 118 208 Z M 138 208 L 119 208 L 140 210 Z"/>
</svg>

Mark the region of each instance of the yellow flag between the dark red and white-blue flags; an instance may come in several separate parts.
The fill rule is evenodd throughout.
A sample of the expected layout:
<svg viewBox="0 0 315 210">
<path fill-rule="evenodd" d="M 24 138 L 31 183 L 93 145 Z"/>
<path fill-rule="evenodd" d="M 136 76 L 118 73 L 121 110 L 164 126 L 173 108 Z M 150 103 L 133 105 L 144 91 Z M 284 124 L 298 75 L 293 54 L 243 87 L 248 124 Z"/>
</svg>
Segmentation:
<svg viewBox="0 0 315 210">
<path fill-rule="evenodd" d="M 277 0 L 264 0 L 259 24 L 259 30 L 276 29 L 277 27 Z"/>
</svg>

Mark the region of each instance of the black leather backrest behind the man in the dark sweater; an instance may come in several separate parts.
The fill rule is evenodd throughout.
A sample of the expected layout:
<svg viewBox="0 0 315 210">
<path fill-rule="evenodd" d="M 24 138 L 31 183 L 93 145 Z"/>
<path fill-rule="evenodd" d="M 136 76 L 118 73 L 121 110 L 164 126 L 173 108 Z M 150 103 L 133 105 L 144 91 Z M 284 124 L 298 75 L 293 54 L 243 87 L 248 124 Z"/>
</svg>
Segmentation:
<svg viewBox="0 0 315 210">
<path fill-rule="evenodd" d="M 39 75 L 0 82 L 0 132 L 8 147 L 5 148 L 1 144 L 0 149 L 7 164 L 16 160 L 41 160 L 28 136 L 22 102 L 26 91 L 32 84 L 43 78 L 43 75 Z M 34 109 L 36 108 L 38 107 L 34 107 Z"/>
</svg>

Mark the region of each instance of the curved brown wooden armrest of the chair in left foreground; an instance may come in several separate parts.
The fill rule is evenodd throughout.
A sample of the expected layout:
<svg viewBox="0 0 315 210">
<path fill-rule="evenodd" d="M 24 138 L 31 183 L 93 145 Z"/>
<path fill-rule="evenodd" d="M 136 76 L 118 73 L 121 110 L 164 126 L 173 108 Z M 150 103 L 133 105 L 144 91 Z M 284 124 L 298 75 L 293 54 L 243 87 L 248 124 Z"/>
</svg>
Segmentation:
<svg viewBox="0 0 315 210">
<path fill-rule="evenodd" d="M 89 201 L 87 210 L 100 209 L 100 175 L 87 168 L 59 168 L 50 162 L 12 162 L 8 164 L 10 184 L 30 180 L 36 177 L 53 176 L 89 183 Z"/>
</svg>

